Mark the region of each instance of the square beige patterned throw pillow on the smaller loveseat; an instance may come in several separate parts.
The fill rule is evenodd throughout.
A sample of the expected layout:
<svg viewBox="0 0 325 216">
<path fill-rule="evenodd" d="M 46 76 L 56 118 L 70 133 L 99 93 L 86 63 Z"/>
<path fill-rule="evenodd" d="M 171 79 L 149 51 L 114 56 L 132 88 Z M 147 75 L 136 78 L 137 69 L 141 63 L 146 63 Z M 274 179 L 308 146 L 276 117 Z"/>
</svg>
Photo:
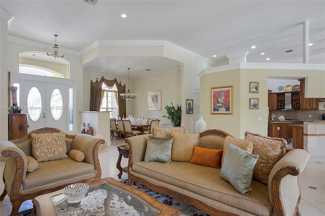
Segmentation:
<svg viewBox="0 0 325 216">
<path fill-rule="evenodd" d="M 31 134 L 32 156 L 38 161 L 51 161 L 68 158 L 66 146 L 66 133 Z"/>
</svg>

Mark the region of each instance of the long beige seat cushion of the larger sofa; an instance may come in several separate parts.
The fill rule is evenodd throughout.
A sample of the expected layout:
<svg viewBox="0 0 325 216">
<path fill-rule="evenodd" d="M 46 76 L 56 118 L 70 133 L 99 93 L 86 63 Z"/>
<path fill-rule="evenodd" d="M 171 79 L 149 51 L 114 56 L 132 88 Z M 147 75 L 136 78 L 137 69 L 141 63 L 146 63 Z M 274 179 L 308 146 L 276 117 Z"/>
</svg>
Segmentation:
<svg viewBox="0 0 325 216">
<path fill-rule="evenodd" d="M 142 161 L 133 163 L 130 171 L 135 176 L 185 195 L 194 198 L 200 195 L 203 202 L 211 203 L 212 206 L 236 206 L 236 209 L 243 209 L 253 215 L 272 215 L 268 186 L 253 179 L 250 185 L 252 191 L 246 196 L 220 178 L 220 170 L 189 162 L 167 164 Z"/>
</svg>

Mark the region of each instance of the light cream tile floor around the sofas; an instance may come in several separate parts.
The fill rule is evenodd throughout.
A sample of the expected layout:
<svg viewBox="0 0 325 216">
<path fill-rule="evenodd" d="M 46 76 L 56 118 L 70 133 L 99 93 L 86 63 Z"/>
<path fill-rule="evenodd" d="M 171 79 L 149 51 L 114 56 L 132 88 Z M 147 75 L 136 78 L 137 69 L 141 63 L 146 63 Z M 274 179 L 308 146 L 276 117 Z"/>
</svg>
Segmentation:
<svg viewBox="0 0 325 216">
<path fill-rule="evenodd" d="M 125 142 L 113 138 L 111 146 L 104 147 L 100 150 L 99 159 L 102 168 L 102 178 L 113 177 L 118 181 L 127 179 L 127 174 L 124 172 L 120 179 L 117 177 L 119 171 L 116 168 L 116 162 L 118 159 L 118 151 L 116 147 L 119 145 L 125 145 Z M 5 161 L 0 162 L 1 178 L 5 163 Z M 127 166 L 127 159 L 122 158 L 121 166 Z M 4 183 L 2 181 L 0 182 L 0 192 L 2 193 Z M 325 215 L 325 157 L 311 157 L 304 172 L 299 176 L 299 183 L 301 189 L 299 209 L 301 214 L 303 216 Z M 29 208 L 32 208 L 31 200 L 23 202 L 19 211 Z M 11 203 L 7 195 L 4 201 L 0 202 L 0 215 L 9 215 L 10 212 Z"/>
</svg>

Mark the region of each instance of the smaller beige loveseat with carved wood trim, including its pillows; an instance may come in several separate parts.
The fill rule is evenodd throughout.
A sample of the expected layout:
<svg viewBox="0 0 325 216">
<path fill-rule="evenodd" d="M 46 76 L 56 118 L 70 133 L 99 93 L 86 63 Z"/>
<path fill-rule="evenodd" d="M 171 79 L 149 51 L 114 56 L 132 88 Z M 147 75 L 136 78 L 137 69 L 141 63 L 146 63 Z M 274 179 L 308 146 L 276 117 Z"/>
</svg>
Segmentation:
<svg viewBox="0 0 325 216">
<path fill-rule="evenodd" d="M 43 147 L 34 148 L 49 137 L 54 137 L 48 143 L 53 147 L 55 142 L 55 148 L 50 147 L 47 152 L 38 151 Z M 36 129 L 20 139 L 1 141 L 1 154 L 7 161 L 3 174 L 5 189 L 0 200 L 8 194 L 12 203 L 10 215 L 16 215 L 25 200 L 73 183 L 101 179 L 98 148 L 104 143 L 104 139 L 88 134 L 69 135 L 50 127 Z M 31 157 L 35 155 L 38 159 Z"/>
</svg>

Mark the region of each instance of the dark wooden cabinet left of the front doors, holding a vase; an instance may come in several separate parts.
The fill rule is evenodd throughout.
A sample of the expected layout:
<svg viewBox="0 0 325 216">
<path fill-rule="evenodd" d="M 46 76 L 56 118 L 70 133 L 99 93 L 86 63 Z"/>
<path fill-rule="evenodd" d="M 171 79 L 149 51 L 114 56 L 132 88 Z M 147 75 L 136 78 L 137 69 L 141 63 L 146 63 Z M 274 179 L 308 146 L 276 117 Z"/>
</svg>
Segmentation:
<svg viewBox="0 0 325 216">
<path fill-rule="evenodd" d="M 27 134 L 27 114 L 9 114 L 8 136 L 9 140 L 18 139 Z"/>
</svg>

